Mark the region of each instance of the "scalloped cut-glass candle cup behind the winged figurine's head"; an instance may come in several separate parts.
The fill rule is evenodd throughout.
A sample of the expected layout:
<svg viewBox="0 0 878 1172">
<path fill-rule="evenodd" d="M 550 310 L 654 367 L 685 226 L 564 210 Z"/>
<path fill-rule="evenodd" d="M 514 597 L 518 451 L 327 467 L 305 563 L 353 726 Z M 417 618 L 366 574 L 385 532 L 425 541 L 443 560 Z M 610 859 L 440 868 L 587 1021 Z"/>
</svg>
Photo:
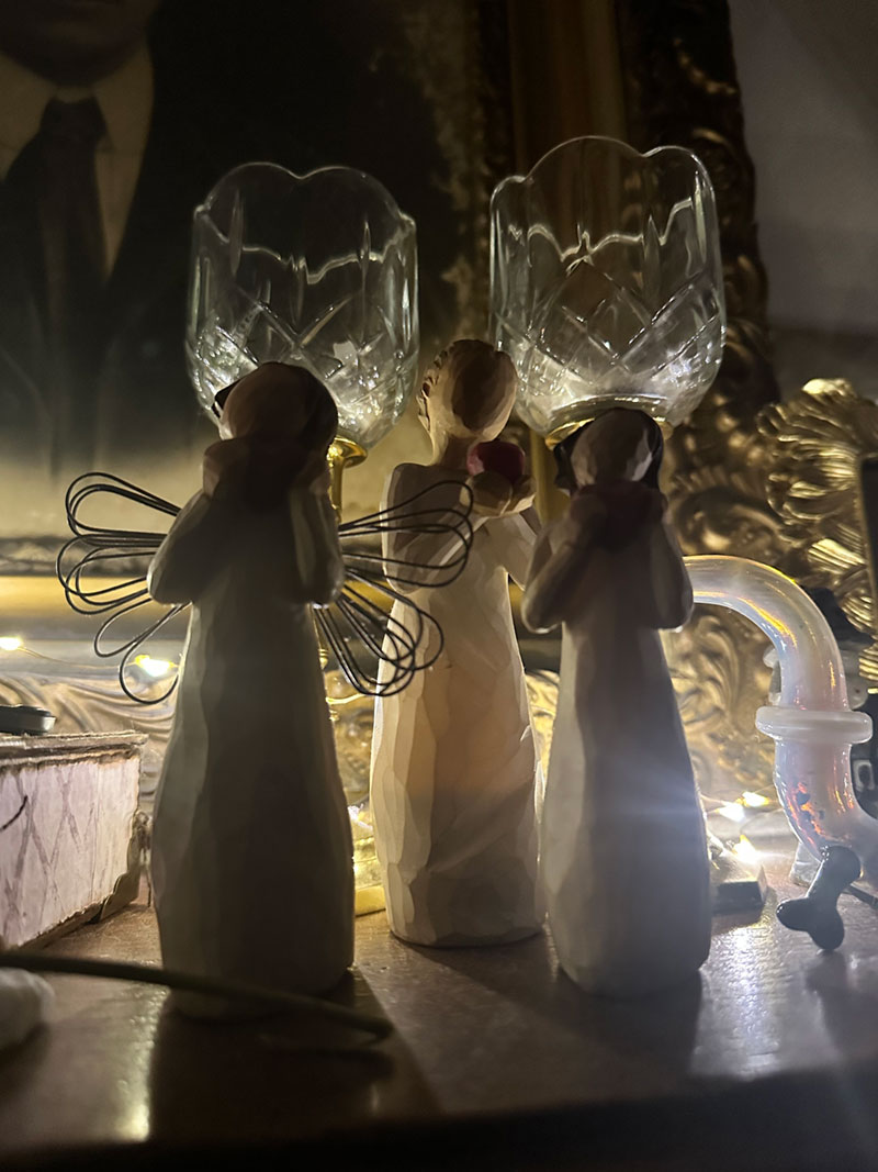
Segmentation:
<svg viewBox="0 0 878 1172">
<path fill-rule="evenodd" d="M 417 282 L 414 222 L 370 176 L 229 171 L 194 212 L 186 356 L 199 402 L 211 413 L 261 362 L 304 366 L 336 401 L 342 445 L 362 454 L 414 381 Z"/>
</svg>

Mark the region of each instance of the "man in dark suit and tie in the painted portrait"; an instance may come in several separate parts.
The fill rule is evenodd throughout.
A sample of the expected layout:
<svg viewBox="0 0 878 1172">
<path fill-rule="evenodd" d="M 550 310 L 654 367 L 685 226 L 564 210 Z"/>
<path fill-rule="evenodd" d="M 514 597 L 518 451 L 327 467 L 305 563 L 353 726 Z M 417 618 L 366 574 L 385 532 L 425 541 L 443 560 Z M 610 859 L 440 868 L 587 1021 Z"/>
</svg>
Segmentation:
<svg viewBox="0 0 878 1172">
<path fill-rule="evenodd" d="M 61 532 L 82 471 L 160 478 L 208 442 L 183 348 L 191 223 L 235 165 L 375 175 L 430 224 L 427 300 L 452 316 L 455 213 L 395 20 L 348 0 L 0 0 L 0 492 L 18 498 L 0 538 Z"/>
</svg>

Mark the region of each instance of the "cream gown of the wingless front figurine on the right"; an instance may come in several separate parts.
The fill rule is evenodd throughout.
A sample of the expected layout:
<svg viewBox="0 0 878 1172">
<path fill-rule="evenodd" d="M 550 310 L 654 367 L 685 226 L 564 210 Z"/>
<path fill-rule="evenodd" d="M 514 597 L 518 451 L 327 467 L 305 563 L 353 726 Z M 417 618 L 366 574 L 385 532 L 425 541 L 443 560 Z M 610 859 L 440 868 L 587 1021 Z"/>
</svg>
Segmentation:
<svg viewBox="0 0 878 1172">
<path fill-rule="evenodd" d="M 558 532 L 544 540 L 555 546 Z M 541 878 L 561 965 L 590 992 L 672 984 L 709 950 L 704 815 L 659 636 L 691 607 L 661 522 L 594 550 L 561 606 Z"/>
</svg>

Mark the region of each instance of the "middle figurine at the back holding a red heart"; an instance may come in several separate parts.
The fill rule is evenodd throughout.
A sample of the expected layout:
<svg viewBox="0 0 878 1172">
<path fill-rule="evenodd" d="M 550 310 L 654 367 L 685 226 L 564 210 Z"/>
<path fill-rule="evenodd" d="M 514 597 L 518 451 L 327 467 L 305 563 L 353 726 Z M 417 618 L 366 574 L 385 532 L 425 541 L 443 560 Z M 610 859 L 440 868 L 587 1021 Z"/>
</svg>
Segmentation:
<svg viewBox="0 0 878 1172">
<path fill-rule="evenodd" d="M 433 363 L 420 395 L 433 461 L 400 464 L 385 492 L 392 509 L 444 484 L 452 509 L 468 486 L 475 531 L 466 568 L 452 585 L 430 591 L 421 579 L 410 587 L 444 633 L 441 653 L 405 691 L 376 702 L 376 847 L 391 929 L 414 943 L 499 943 L 531 935 L 542 921 L 537 766 L 508 591 L 509 575 L 524 580 L 539 520 L 531 482 L 515 458 L 520 449 L 496 438 L 515 389 L 507 355 L 481 341 L 454 342 Z M 402 559 L 439 567 L 445 543 L 430 526 L 391 530 L 385 565 Z M 398 605 L 397 612 L 406 621 Z"/>
</svg>

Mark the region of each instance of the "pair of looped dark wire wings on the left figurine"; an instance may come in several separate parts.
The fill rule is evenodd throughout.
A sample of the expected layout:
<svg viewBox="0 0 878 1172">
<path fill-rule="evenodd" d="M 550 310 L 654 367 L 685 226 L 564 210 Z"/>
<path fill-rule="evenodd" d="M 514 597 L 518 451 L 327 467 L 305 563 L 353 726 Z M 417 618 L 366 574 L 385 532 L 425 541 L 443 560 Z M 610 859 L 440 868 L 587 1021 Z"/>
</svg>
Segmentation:
<svg viewBox="0 0 878 1172">
<path fill-rule="evenodd" d="M 92 647 L 101 659 L 121 656 L 118 679 L 125 695 L 138 703 L 156 704 L 171 695 L 177 680 L 160 696 L 144 697 L 131 688 L 128 674 L 144 643 L 185 606 L 162 608 L 158 618 L 133 635 L 118 633 L 130 629 L 126 616 L 142 607 L 158 606 L 146 588 L 146 572 L 165 532 L 84 520 L 88 502 L 105 504 L 114 497 L 170 518 L 179 512 L 177 505 L 121 477 L 107 472 L 80 476 L 64 500 L 74 536 L 57 556 L 57 577 L 74 611 L 102 616 Z M 441 654 L 441 628 L 411 592 L 447 586 L 464 572 L 473 540 L 472 503 L 468 485 L 440 481 L 389 509 L 338 526 L 344 585 L 338 598 L 315 606 L 314 614 L 327 649 L 351 687 L 363 695 L 396 695 Z M 426 537 L 439 552 L 434 557 L 385 557 L 382 543 L 389 533 L 417 537 L 421 539 L 419 547 Z"/>
</svg>

